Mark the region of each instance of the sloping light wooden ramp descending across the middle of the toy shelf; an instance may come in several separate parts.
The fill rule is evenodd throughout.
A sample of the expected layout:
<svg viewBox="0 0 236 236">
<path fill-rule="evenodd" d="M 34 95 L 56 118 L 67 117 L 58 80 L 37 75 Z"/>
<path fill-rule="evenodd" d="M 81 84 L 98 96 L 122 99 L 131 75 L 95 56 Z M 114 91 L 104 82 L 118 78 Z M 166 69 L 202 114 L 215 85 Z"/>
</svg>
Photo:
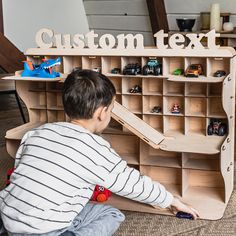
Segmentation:
<svg viewBox="0 0 236 236">
<path fill-rule="evenodd" d="M 115 102 L 114 104 L 112 118 L 126 127 L 132 133 L 136 134 L 139 138 L 141 138 L 153 148 L 159 148 L 160 142 L 164 139 L 164 136 L 161 133 L 156 131 L 154 128 L 152 128 L 142 119 L 138 118 L 118 102 Z"/>
</svg>

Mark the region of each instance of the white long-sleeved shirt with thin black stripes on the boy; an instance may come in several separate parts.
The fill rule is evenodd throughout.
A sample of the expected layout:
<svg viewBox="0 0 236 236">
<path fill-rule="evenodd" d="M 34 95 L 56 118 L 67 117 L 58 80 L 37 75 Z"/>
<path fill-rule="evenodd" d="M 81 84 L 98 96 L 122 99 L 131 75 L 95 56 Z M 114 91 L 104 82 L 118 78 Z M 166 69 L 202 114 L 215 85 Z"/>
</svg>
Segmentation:
<svg viewBox="0 0 236 236">
<path fill-rule="evenodd" d="M 1 218 L 12 233 L 65 228 L 88 203 L 96 184 L 113 193 L 167 207 L 173 196 L 127 166 L 102 137 L 67 122 L 27 132 L 11 184 L 0 192 Z"/>
</svg>

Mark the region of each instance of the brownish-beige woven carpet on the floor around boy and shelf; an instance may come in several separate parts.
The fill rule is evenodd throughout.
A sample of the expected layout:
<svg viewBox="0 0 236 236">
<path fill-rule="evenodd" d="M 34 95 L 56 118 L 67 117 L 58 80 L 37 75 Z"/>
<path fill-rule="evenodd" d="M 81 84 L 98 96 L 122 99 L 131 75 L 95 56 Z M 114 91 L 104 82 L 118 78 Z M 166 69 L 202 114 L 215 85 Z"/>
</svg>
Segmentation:
<svg viewBox="0 0 236 236">
<path fill-rule="evenodd" d="M 5 95 L 4 95 L 5 96 Z M 0 188 L 5 184 L 6 172 L 13 160 L 4 147 L 6 130 L 22 124 L 14 97 L 0 100 Z M 236 236 L 236 191 L 234 190 L 224 217 L 218 221 L 181 220 L 175 217 L 124 211 L 125 222 L 115 236 Z M 96 233 L 95 233 L 96 235 Z M 85 235 L 86 236 L 86 235 Z"/>
</svg>

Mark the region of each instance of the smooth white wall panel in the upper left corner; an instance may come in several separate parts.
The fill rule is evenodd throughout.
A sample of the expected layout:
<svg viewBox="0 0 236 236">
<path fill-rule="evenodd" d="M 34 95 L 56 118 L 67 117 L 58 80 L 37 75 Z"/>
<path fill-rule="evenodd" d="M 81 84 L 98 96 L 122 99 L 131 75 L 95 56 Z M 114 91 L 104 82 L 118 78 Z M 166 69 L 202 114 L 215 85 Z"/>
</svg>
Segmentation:
<svg viewBox="0 0 236 236">
<path fill-rule="evenodd" d="M 4 34 L 21 51 L 36 47 L 44 27 L 58 33 L 89 31 L 82 0 L 3 0 Z"/>
</svg>

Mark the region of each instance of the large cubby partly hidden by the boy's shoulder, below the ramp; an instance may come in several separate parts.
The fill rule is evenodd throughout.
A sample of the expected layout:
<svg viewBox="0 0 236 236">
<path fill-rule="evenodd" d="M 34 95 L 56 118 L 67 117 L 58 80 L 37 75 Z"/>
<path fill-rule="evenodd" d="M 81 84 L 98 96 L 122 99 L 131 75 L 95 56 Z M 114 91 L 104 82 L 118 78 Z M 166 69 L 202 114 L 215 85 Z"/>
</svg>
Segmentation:
<svg viewBox="0 0 236 236">
<path fill-rule="evenodd" d="M 111 147 L 124 159 L 128 164 L 139 164 L 139 138 L 134 135 L 119 135 L 103 133 L 102 137 L 109 140 Z"/>
</svg>

